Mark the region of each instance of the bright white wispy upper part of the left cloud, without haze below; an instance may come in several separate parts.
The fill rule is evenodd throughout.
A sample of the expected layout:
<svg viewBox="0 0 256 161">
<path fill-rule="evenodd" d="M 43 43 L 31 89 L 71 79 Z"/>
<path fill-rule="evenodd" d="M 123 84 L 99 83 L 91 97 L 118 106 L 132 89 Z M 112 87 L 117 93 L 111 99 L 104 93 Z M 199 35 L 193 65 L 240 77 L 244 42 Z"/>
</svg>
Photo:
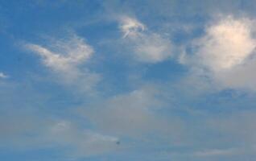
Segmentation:
<svg viewBox="0 0 256 161">
<path fill-rule="evenodd" d="M 77 36 L 67 41 L 56 41 L 54 45 L 52 50 L 37 44 L 27 44 L 27 47 L 38 53 L 47 67 L 59 72 L 73 70 L 93 54 L 93 48 Z"/>
</svg>

